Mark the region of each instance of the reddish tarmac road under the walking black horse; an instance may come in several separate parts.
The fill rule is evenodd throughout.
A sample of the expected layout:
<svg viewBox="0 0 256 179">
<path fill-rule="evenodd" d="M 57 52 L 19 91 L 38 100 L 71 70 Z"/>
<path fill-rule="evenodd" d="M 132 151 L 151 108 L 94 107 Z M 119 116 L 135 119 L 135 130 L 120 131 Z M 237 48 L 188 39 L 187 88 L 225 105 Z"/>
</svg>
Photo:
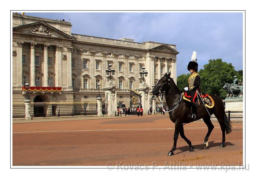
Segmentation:
<svg viewBox="0 0 256 179">
<path fill-rule="evenodd" d="M 204 122 L 184 125 L 185 135 L 195 146 L 179 136 L 173 156 L 174 124 L 168 115 L 132 116 L 113 119 L 51 121 L 13 124 L 13 166 L 106 166 L 113 165 L 243 165 L 243 124 L 232 123 L 225 148 L 219 148 L 219 123 L 203 142 Z M 153 162 L 153 163 L 152 163 Z"/>
</svg>

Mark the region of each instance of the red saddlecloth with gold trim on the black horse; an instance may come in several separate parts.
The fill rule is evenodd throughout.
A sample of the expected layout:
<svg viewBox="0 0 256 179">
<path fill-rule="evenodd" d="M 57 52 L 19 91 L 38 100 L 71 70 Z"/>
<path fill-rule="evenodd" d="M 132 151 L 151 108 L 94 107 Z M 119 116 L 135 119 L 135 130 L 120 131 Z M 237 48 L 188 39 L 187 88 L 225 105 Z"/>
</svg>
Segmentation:
<svg viewBox="0 0 256 179">
<path fill-rule="evenodd" d="M 186 92 L 186 91 L 182 92 L 182 97 L 183 97 L 183 100 L 190 102 L 191 96 L 188 95 L 188 92 Z M 213 101 L 213 99 L 210 95 L 205 94 L 205 93 L 201 93 L 200 97 L 204 100 L 204 104 L 205 104 L 206 107 L 212 108 L 214 106 L 214 101 Z M 203 105 L 203 102 L 202 102 L 200 97 L 198 97 L 198 99 L 196 99 L 196 101 L 199 100 L 199 103 L 197 103 L 197 106 L 201 105 L 201 104 Z"/>
</svg>

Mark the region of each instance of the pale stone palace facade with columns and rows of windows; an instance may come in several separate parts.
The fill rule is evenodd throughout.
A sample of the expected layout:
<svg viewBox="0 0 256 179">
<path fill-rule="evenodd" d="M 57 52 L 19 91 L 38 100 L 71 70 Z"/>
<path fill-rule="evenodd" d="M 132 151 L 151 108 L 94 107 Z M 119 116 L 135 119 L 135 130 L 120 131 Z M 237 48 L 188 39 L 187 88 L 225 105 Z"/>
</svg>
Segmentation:
<svg viewBox="0 0 256 179">
<path fill-rule="evenodd" d="M 116 70 L 117 103 L 129 105 L 130 89 L 139 89 L 142 66 L 148 71 L 145 81 L 151 89 L 165 72 L 176 82 L 174 44 L 133 42 L 133 39 L 108 39 L 71 33 L 71 23 L 12 14 L 12 90 L 13 102 L 23 102 L 24 82 L 30 86 L 61 87 L 61 92 L 29 92 L 30 100 L 95 101 L 105 96 L 108 64 Z M 151 89 L 152 91 L 152 89 Z M 152 92 L 149 92 L 149 97 Z"/>
</svg>

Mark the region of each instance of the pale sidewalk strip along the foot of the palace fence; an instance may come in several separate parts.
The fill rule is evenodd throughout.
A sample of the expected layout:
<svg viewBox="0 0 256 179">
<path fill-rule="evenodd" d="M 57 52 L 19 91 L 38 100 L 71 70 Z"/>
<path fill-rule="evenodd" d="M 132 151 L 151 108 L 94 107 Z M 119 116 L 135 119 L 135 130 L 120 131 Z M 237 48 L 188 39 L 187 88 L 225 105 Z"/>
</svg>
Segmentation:
<svg viewBox="0 0 256 179">
<path fill-rule="evenodd" d="M 27 123 L 27 122 L 50 122 L 50 121 L 76 121 L 76 120 L 94 120 L 94 119 L 113 119 L 113 118 L 124 118 L 132 116 L 103 116 L 98 117 L 97 115 L 90 116 L 60 116 L 60 117 L 34 117 L 32 120 L 25 120 L 24 118 L 13 118 L 12 124 L 16 123 Z"/>
</svg>

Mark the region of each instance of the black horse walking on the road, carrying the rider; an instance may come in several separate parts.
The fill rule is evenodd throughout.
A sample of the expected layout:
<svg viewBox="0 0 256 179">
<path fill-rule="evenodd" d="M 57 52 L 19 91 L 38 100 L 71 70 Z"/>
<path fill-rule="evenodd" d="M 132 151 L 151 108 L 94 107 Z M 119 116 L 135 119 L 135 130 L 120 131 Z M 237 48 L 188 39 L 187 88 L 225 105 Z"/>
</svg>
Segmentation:
<svg viewBox="0 0 256 179">
<path fill-rule="evenodd" d="M 224 106 L 222 103 L 222 100 L 220 97 L 216 95 L 210 95 L 212 99 L 214 100 L 214 106 L 212 108 L 209 108 L 208 111 L 206 111 L 206 107 L 204 105 L 199 105 L 197 107 L 197 114 L 195 120 L 192 120 L 189 117 L 189 114 L 191 114 L 191 107 L 189 104 L 187 104 L 187 101 L 182 100 L 182 92 L 180 91 L 175 82 L 172 78 L 170 78 L 171 72 L 169 74 L 165 73 L 164 76 L 158 80 L 157 84 L 153 88 L 153 95 L 161 95 L 165 92 L 165 99 L 166 103 L 169 108 L 169 117 L 170 120 L 175 123 L 175 130 L 174 130 L 174 136 L 173 136 L 173 147 L 170 152 L 167 153 L 168 156 L 174 155 L 174 152 L 176 150 L 176 144 L 177 140 L 180 136 L 188 143 L 189 145 L 189 151 L 194 151 L 194 146 L 192 145 L 191 141 L 188 140 L 188 138 L 184 134 L 184 123 L 190 123 L 193 121 L 197 121 L 201 118 L 203 118 L 204 123 L 207 125 L 208 132 L 204 138 L 204 148 L 208 148 L 209 143 L 208 139 L 209 136 L 214 128 L 212 121 L 210 119 L 210 115 L 214 114 L 217 118 L 220 128 L 222 131 L 222 142 L 220 144 L 220 147 L 225 147 L 224 143 L 226 141 L 225 139 L 225 131 L 226 134 L 229 134 L 232 131 L 232 126 L 230 122 L 228 121 L 228 117 L 225 113 Z M 209 115 L 210 114 L 210 115 Z"/>
</svg>

